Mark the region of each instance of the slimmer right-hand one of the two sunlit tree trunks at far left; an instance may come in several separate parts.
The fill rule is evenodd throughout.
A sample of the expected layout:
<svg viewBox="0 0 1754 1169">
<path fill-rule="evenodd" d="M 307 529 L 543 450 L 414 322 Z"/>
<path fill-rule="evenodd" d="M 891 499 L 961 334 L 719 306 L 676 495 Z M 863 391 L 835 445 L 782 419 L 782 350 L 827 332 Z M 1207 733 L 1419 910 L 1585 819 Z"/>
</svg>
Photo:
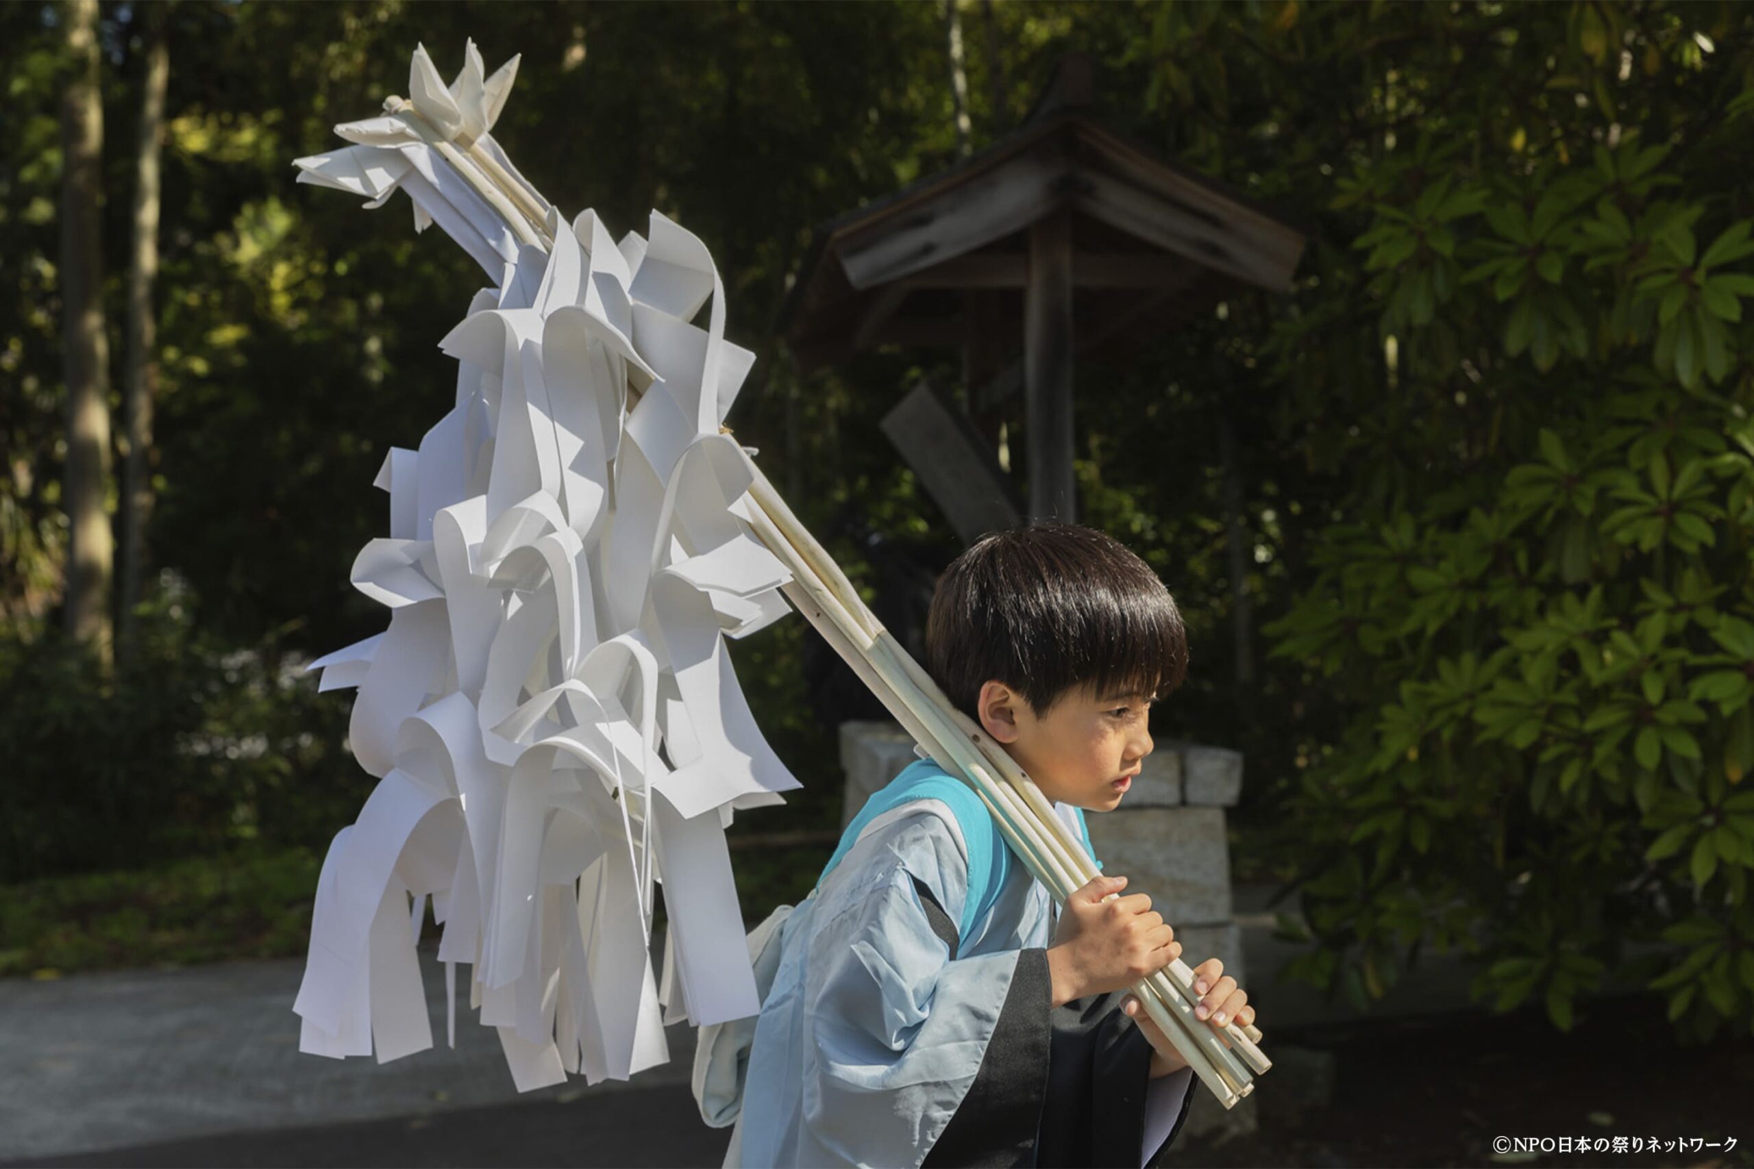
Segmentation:
<svg viewBox="0 0 1754 1169">
<path fill-rule="evenodd" d="M 165 46 L 165 9 L 140 9 L 144 61 L 140 70 L 140 126 L 133 165 L 133 249 L 128 256 L 128 366 L 123 387 L 126 463 L 121 478 L 121 584 L 116 615 L 123 652 L 140 603 L 146 531 L 153 515 L 153 394 L 158 389 L 158 317 L 153 282 L 158 277 L 160 151 L 165 131 L 165 81 L 170 51 Z"/>
</svg>

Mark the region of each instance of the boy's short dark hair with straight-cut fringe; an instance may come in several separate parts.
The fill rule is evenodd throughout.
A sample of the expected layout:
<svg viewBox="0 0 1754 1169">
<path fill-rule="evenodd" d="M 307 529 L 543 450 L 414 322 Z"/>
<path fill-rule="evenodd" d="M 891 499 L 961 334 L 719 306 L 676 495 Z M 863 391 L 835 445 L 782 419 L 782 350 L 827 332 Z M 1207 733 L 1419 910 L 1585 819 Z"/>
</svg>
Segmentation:
<svg viewBox="0 0 1754 1169">
<path fill-rule="evenodd" d="M 951 561 L 926 617 L 926 670 L 979 717 L 996 678 L 1042 713 L 1068 689 L 1166 696 L 1187 677 L 1187 633 L 1145 561 L 1091 528 L 1033 524 Z"/>
</svg>

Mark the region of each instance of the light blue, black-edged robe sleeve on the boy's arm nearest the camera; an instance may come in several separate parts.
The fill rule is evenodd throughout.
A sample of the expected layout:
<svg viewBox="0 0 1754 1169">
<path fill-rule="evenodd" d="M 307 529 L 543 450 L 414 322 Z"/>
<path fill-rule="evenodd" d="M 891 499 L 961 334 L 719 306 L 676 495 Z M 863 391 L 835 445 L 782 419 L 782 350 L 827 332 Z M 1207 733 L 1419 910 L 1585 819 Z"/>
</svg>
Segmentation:
<svg viewBox="0 0 1754 1169">
<path fill-rule="evenodd" d="M 1026 1164 L 1051 1055 L 1047 952 L 958 955 L 966 869 L 937 817 L 873 832 L 859 854 L 809 941 L 798 1153 L 917 1167 L 972 1109 L 982 1144 Z"/>
</svg>

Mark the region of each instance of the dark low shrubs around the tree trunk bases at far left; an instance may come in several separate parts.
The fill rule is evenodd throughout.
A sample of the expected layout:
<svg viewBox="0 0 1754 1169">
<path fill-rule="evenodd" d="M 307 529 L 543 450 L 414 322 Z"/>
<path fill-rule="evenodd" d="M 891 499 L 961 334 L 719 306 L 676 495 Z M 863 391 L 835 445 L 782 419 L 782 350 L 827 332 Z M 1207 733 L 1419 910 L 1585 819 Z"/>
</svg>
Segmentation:
<svg viewBox="0 0 1754 1169">
<path fill-rule="evenodd" d="M 139 617 L 112 677 L 58 634 L 0 641 L 0 882 L 321 847 L 370 790 L 342 754 L 346 705 L 272 645 L 195 629 L 174 584 Z"/>
</svg>

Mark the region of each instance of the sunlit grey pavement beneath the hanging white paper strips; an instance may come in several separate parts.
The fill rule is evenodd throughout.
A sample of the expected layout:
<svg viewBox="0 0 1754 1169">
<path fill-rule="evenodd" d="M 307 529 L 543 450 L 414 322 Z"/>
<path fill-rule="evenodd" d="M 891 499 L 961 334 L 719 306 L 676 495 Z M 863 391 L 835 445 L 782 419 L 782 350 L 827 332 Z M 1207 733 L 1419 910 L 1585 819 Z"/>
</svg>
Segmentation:
<svg viewBox="0 0 1754 1169">
<path fill-rule="evenodd" d="M 479 1158 L 460 1143 L 444 1113 L 510 1104 L 533 1134 L 558 1132 L 579 1116 L 579 1132 L 595 1130 L 591 1116 L 623 1109 L 674 1111 L 674 1136 L 705 1137 L 710 1150 L 719 1134 L 707 1129 L 688 1095 L 693 1031 L 672 1027 L 672 1060 L 640 1073 L 631 1083 L 586 1088 L 582 1080 L 519 1095 L 505 1071 L 495 1032 L 458 1011 L 458 1046 L 444 1045 L 442 966 L 421 955 L 428 980 L 426 1001 L 437 1046 L 391 1064 L 370 1059 L 328 1060 L 298 1053 L 298 1017 L 291 1013 L 302 960 L 235 962 L 182 971 L 119 971 L 58 981 L 0 981 L 0 1162 L 40 1162 L 56 1155 L 121 1150 L 161 1141 L 214 1136 L 212 1160 L 202 1141 L 170 1157 L 177 1164 L 368 1164 L 360 1155 L 317 1157 L 317 1144 L 226 1143 L 216 1134 L 267 1129 L 330 1127 L 354 1120 L 398 1118 L 395 1123 L 431 1141 L 433 1150 L 456 1148 L 460 1160 L 423 1153 L 421 1164 L 526 1164 Z M 598 1104 L 602 1101 L 602 1104 Z M 612 1101 L 612 1102 L 610 1102 Z M 672 1108 L 674 1104 L 674 1108 Z M 686 1108 L 684 1108 L 686 1106 Z M 430 1123 L 435 1129 L 409 1129 Z M 340 1130 L 335 1130 L 337 1134 Z M 370 1164 L 398 1164 L 389 1129 L 358 1129 L 358 1139 L 384 1155 Z M 256 1137 L 260 1141 L 260 1136 Z M 328 1137 L 323 1137 L 328 1139 Z M 275 1160 L 284 1150 L 309 1155 Z M 346 1150 L 344 1146 L 339 1146 Z M 545 1148 L 560 1150 L 561 1143 Z M 588 1153 L 586 1153 L 588 1155 Z M 563 1164 L 551 1155 L 535 1162 Z M 98 1164 L 98 1162 L 86 1162 Z M 146 1164 L 144 1153 L 123 1162 Z M 637 1164 L 565 1160 L 565 1164 Z M 686 1164 L 663 1160 L 654 1164 Z M 717 1158 L 714 1158 L 717 1164 Z"/>
</svg>

